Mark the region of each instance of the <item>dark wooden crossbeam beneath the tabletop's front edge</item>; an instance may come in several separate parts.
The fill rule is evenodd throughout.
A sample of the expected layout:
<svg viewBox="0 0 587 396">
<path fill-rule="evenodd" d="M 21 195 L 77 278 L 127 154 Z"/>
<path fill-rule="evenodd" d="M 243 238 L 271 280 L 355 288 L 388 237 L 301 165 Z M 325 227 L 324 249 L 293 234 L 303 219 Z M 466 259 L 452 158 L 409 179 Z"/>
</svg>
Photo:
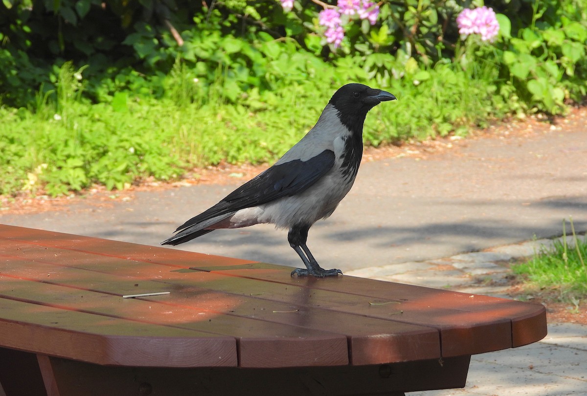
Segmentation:
<svg viewBox="0 0 587 396">
<path fill-rule="evenodd" d="M 410 391 L 464 387 L 470 361 L 470 356 L 461 356 L 383 365 L 262 369 L 112 367 L 45 358 L 39 363 L 50 367 L 58 390 L 49 396 L 404 396 Z"/>
</svg>

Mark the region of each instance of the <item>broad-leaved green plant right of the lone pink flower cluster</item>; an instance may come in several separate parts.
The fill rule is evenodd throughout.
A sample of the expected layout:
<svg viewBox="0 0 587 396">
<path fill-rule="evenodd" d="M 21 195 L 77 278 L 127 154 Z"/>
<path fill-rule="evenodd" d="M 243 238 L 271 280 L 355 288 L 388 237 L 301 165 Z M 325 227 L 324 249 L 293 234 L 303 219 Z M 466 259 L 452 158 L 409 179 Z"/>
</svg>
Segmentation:
<svg viewBox="0 0 587 396">
<path fill-rule="evenodd" d="M 565 100 L 581 101 L 587 94 L 587 24 L 575 19 L 586 11 L 569 8 L 573 3 L 568 1 L 565 7 L 558 0 L 535 2 L 529 26 L 518 21 L 514 30 L 502 15 L 502 45 L 492 54 L 500 64 L 500 76 L 517 96 L 551 114 L 562 113 Z"/>
</svg>

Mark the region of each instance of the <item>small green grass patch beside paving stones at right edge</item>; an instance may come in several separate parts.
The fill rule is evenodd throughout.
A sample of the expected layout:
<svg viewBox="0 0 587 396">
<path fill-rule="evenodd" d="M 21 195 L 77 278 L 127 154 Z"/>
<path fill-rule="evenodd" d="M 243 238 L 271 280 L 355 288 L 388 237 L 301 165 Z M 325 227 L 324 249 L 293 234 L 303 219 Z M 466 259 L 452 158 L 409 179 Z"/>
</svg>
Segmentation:
<svg viewBox="0 0 587 396">
<path fill-rule="evenodd" d="M 562 241 L 552 249 L 543 248 L 534 258 L 512 266 L 514 273 L 527 280 L 528 289 L 555 292 L 558 299 L 573 302 L 587 297 L 587 238 L 575 234 L 571 219 L 572 244 L 568 243 L 563 221 Z"/>
</svg>

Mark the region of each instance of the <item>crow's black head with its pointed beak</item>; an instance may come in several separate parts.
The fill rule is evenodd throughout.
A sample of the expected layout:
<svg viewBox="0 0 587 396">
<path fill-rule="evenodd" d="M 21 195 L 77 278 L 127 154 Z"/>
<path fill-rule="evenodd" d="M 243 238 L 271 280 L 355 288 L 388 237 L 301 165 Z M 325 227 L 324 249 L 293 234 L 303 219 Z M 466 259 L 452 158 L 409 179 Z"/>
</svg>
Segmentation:
<svg viewBox="0 0 587 396">
<path fill-rule="evenodd" d="M 382 101 L 394 99 L 395 96 L 380 89 L 363 84 L 346 84 L 332 95 L 329 103 L 338 110 L 340 122 L 349 130 L 362 133 L 367 112 Z"/>
</svg>

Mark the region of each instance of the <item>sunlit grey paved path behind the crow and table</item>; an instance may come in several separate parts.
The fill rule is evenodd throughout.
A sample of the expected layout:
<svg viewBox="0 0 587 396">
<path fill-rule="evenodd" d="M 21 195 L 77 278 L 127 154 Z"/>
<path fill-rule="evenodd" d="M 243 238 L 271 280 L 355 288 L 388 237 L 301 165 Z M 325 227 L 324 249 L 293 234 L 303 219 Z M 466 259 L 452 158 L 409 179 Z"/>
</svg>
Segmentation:
<svg viewBox="0 0 587 396">
<path fill-rule="evenodd" d="M 495 254 L 503 251 L 481 259 L 458 255 L 560 235 L 569 216 L 578 232 L 587 231 L 586 120 L 583 110 L 582 117 L 534 133 L 500 133 L 423 157 L 366 162 L 335 214 L 312 228 L 309 246 L 323 267 L 348 275 L 499 295 L 471 275 L 498 278 Z M 5 214 L 0 222 L 157 245 L 242 182 L 138 192 L 112 208 L 77 200 L 66 211 Z M 215 231 L 180 248 L 299 265 L 286 232 L 271 226 Z M 434 272 L 438 263 L 453 269 Z M 541 343 L 474 356 L 464 390 L 421 395 L 585 395 L 585 362 L 587 328 L 556 324 Z"/>
</svg>

